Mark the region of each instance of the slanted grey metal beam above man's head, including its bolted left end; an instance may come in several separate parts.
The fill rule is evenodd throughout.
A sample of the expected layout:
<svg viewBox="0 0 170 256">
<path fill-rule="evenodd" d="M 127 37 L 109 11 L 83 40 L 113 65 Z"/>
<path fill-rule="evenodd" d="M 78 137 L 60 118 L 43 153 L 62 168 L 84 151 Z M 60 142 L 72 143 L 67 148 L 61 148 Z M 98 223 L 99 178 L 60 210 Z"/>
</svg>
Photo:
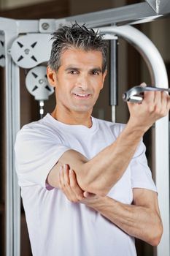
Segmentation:
<svg viewBox="0 0 170 256">
<path fill-rule="evenodd" d="M 89 27 L 109 26 L 112 24 L 139 24 L 162 18 L 170 14 L 169 0 L 146 0 L 139 4 L 129 4 L 125 7 L 118 7 L 99 12 L 90 12 L 83 15 L 74 15 L 58 20 L 39 20 L 39 31 L 44 33 L 53 32 L 58 26 L 74 22 L 86 23 Z"/>
</svg>

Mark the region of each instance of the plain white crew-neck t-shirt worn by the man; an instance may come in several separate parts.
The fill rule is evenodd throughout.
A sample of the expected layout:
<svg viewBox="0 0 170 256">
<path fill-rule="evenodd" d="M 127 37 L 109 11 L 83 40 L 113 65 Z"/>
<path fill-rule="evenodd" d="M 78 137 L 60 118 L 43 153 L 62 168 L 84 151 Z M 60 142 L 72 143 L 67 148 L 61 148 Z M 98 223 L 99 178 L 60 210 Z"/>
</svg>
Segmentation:
<svg viewBox="0 0 170 256">
<path fill-rule="evenodd" d="M 123 129 L 92 118 L 91 128 L 56 121 L 50 114 L 24 126 L 15 143 L 16 170 L 34 256 L 134 256 L 134 238 L 97 211 L 72 203 L 45 181 L 70 148 L 91 159 L 109 146 Z M 108 196 L 131 204 L 133 188 L 156 191 L 141 142 L 131 163 Z M 123 157 L 123 156 L 122 156 Z"/>
</svg>

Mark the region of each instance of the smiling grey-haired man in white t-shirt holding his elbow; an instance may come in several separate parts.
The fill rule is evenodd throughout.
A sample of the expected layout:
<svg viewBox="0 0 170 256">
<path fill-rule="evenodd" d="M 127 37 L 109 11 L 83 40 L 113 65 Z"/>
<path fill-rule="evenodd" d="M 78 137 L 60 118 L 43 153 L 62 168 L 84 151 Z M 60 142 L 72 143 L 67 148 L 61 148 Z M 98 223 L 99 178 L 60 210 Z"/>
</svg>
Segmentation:
<svg viewBox="0 0 170 256">
<path fill-rule="evenodd" d="M 134 237 L 153 246 L 163 227 L 142 136 L 166 116 L 169 96 L 128 103 L 128 124 L 91 117 L 107 74 L 104 39 L 63 26 L 53 34 L 47 77 L 51 114 L 18 133 L 15 152 L 34 256 L 133 256 Z"/>
</svg>

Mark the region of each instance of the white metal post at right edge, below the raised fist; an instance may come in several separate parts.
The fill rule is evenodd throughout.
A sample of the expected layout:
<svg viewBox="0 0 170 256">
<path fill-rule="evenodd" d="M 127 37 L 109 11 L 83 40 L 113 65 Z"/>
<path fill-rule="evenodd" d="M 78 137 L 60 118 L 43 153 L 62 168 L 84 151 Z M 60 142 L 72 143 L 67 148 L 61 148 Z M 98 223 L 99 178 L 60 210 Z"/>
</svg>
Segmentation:
<svg viewBox="0 0 170 256">
<path fill-rule="evenodd" d="M 169 116 L 155 123 L 155 182 L 163 220 L 163 236 L 157 256 L 169 256 Z"/>
</svg>

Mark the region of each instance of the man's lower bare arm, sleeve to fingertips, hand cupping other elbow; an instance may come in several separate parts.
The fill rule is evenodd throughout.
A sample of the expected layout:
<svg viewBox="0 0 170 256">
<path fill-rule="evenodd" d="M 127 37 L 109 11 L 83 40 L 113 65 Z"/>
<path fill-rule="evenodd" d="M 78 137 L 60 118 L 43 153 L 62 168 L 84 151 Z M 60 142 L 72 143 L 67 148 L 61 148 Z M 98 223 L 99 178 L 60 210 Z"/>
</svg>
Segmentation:
<svg viewBox="0 0 170 256">
<path fill-rule="evenodd" d="M 152 246 L 159 244 L 163 225 L 156 192 L 149 189 L 133 189 L 133 205 L 120 203 L 107 196 L 88 195 L 88 192 L 80 189 L 76 174 L 74 170 L 69 170 L 68 165 L 61 169 L 60 187 L 69 200 L 93 208 L 128 235 L 146 241 Z"/>
</svg>

